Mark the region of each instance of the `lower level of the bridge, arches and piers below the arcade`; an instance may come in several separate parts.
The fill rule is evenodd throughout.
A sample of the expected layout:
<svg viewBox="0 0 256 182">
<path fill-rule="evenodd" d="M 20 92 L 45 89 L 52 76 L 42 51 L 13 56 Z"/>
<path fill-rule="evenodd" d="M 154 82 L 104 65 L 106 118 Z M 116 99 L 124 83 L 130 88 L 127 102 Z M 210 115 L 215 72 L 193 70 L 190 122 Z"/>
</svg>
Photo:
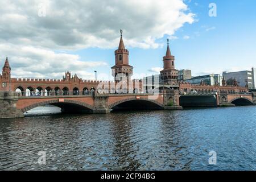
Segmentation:
<svg viewBox="0 0 256 182">
<path fill-rule="evenodd" d="M 54 105 L 64 112 L 109 113 L 112 110 L 181 109 L 180 106 L 235 106 L 256 104 L 251 93 L 179 92 L 164 90 L 159 94 L 97 94 L 22 96 L 15 92 L 0 92 L 0 118 L 23 117 L 23 113 L 38 106 Z"/>
</svg>

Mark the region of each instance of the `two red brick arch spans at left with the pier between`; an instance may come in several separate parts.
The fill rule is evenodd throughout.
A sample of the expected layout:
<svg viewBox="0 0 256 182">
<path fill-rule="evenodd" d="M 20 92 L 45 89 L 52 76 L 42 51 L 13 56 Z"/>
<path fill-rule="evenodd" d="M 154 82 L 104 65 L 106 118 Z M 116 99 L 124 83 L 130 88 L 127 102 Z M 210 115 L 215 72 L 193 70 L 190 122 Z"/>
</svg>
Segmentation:
<svg viewBox="0 0 256 182">
<path fill-rule="evenodd" d="M 125 104 L 125 105 L 124 105 Z M 75 96 L 18 97 L 16 109 L 23 113 L 38 106 L 54 105 L 63 111 L 109 113 L 112 109 L 162 109 L 163 95 L 99 94 Z"/>
</svg>

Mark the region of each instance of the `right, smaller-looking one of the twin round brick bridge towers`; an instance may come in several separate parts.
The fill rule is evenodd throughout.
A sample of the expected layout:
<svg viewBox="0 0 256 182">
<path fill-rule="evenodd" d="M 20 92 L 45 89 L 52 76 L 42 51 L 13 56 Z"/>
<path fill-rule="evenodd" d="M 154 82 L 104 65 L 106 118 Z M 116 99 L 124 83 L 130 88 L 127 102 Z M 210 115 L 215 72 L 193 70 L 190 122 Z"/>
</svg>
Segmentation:
<svg viewBox="0 0 256 182">
<path fill-rule="evenodd" d="M 177 86 L 178 71 L 175 69 L 175 57 L 171 55 L 169 39 L 167 39 L 166 56 L 163 57 L 164 69 L 160 71 L 161 78 L 166 85 Z"/>
</svg>

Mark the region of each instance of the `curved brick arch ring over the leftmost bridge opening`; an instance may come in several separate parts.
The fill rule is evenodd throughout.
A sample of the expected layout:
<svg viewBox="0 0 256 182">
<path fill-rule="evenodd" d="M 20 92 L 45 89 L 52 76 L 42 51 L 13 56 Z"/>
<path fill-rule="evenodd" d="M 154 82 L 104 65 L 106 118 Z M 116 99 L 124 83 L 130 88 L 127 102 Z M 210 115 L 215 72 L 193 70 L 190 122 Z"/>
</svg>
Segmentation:
<svg viewBox="0 0 256 182">
<path fill-rule="evenodd" d="M 44 101 L 44 102 L 38 102 L 36 104 L 32 104 L 30 106 L 24 107 L 21 110 L 22 110 L 23 113 L 25 113 L 26 111 L 34 109 L 35 107 L 43 106 L 43 105 L 46 105 L 46 104 L 51 105 L 51 104 L 57 104 L 57 103 L 60 103 L 60 102 L 58 100 L 49 100 L 49 101 Z M 79 106 L 85 107 L 86 109 L 93 110 L 93 106 L 91 106 L 89 104 L 86 104 L 84 102 L 80 102 L 80 101 L 64 100 L 64 102 L 61 102 L 61 103 L 79 105 Z"/>
</svg>

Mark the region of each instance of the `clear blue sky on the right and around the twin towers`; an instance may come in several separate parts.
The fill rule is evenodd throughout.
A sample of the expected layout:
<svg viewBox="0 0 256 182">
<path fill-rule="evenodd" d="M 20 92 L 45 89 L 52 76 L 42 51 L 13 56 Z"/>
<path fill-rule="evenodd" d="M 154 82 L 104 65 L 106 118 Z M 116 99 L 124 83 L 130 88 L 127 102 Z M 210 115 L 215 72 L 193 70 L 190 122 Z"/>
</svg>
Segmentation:
<svg viewBox="0 0 256 182">
<path fill-rule="evenodd" d="M 208 15 L 211 2 L 217 5 L 217 17 Z M 170 46 L 177 69 L 192 69 L 192 74 L 197 76 L 256 67 L 256 1 L 192 0 L 185 3 L 196 14 L 196 22 L 184 24 L 173 35 L 176 39 L 171 40 Z M 125 32 L 123 34 L 125 37 Z M 166 44 L 168 37 L 165 35 L 157 41 Z M 134 72 L 155 75 L 157 73 L 149 70 L 163 67 L 166 45 L 156 49 L 127 48 Z M 110 70 L 114 64 L 114 50 L 88 48 L 70 53 L 79 54 L 85 60 L 104 60 Z M 95 69 L 109 73 L 106 67 Z"/>
</svg>

